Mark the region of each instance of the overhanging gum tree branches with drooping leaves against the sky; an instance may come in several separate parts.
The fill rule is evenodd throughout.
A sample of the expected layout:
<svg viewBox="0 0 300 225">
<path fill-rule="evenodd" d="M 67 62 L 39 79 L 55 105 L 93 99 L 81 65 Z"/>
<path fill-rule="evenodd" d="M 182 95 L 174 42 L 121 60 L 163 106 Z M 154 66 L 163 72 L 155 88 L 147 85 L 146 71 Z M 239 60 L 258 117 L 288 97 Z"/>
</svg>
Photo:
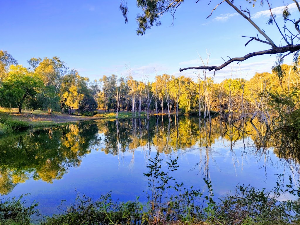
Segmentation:
<svg viewBox="0 0 300 225">
<path fill-rule="evenodd" d="M 204 0 L 203 0 L 204 1 Z M 200 4 L 203 1 L 197 0 L 195 4 Z M 291 0 L 296 4 L 297 13 L 300 13 L 300 5 L 296 0 Z M 171 14 L 173 16 L 172 25 L 174 23 L 174 14 L 178 7 L 184 2 L 184 0 L 156 0 L 156 1 L 149 1 L 149 0 L 137 0 L 137 7 L 139 7 L 143 14 L 137 15 L 137 35 L 144 35 L 146 30 L 151 29 L 153 26 L 160 26 L 161 25 L 161 17 L 166 14 Z M 211 1 L 207 1 L 208 4 Z M 223 4 L 222 4 L 223 3 Z M 284 22 L 284 26 L 280 27 L 277 23 L 276 15 L 273 13 L 272 6 L 269 0 L 245 0 L 244 4 L 250 4 L 251 6 L 255 6 L 256 4 L 260 4 L 261 6 L 266 6 L 270 11 L 270 17 L 267 21 L 268 25 L 274 25 L 277 30 L 278 35 L 282 38 L 280 43 L 275 44 L 275 41 L 272 40 L 268 34 L 264 31 L 264 29 L 260 28 L 252 19 L 250 10 L 247 8 L 246 5 L 241 5 L 241 1 L 233 1 L 233 0 L 221 0 L 215 7 L 212 7 L 210 13 L 208 13 L 207 19 L 213 14 L 214 10 L 217 7 L 222 7 L 224 4 L 228 4 L 235 10 L 241 17 L 247 20 L 250 23 L 250 26 L 254 27 L 257 31 L 256 35 L 249 36 L 249 40 L 245 43 L 245 46 L 249 44 L 251 41 L 258 41 L 260 43 L 264 43 L 269 45 L 271 48 L 265 48 L 260 51 L 250 52 L 241 57 L 230 58 L 229 60 L 225 61 L 224 63 L 219 66 L 193 66 L 193 67 L 186 67 L 180 68 L 179 71 L 188 70 L 188 69 L 207 69 L 209 71 L 220 70 L 227 65 L 231 64 L 232 62 L 240 62 L 244 61 L 248 58 L 252 58 L 258 55 L 266 55 L 266 54 L 276 54 L 277 61 L 274 64 L 274 68 L 278 70 L 278 75 L 281 76 L 283 72 L 280 70 L 280 66 L 283 64 L 283 58 L 291 53 L 294 53 L 295 61 L 298 59 L 298 52 L 300 50 L 300 44 L 298 41 L 300 40 L 300 28 L 299 23 L 300 19 L 298 18 L 290 18 L 291 13 L 289 11 L 289 5 L 283 3 L 283 10 L 282 10 L 282 19 Z M 120 4 L 120 10 L 125 18 L 125 22 L 128 22 L 128 6 L 127 1 L 122 0 Z M 294 34 L 295 32 L 295 34 Z M 242 36 L 245 37 L 245 36 Z M 295 64 L 297 65 L 297 64 Z"/>
</svg>

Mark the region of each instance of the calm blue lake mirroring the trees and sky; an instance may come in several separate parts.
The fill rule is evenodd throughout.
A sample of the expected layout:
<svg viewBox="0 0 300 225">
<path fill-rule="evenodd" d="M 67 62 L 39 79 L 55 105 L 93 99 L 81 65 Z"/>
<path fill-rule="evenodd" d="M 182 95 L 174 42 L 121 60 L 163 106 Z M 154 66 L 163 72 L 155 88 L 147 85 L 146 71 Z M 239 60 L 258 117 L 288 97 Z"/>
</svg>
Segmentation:
<svg viewBox="0 0 300 225">
<path fill-rule="evenodd" d="M 254 122 L 253 122 L 254 123 Z M 299 161 L 283 157 L 280 140 L 259 122 L 229 125 L 219 117 L 212 125 L 198 117 L 79 122 L 0 139 L 1 198 L 26 196 L 37 200 L 44 215 L 58 213 L 62 199 L 76 193 L 93 199 L 111 191 L 113 199 L 146 201 L 149 158 L 178 159 L 173 173 L 185 187 L 206 191 L 211 181 L 215 197 L 250 184 L 271 190 L 277 174 L 299 178 Z M 286 198 L 289 196 L 286 196 Z"/>
</svg>

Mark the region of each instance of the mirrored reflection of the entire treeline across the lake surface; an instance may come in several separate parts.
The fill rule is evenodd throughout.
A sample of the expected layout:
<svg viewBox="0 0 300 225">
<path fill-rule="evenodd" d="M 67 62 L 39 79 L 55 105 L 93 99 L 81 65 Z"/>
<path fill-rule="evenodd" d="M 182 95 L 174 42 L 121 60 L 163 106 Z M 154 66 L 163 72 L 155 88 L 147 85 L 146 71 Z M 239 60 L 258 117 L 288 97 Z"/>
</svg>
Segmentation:
<svg viewBox="0 0 300 225">
<path fill-rule="evenodd" d="M 248 155 L 263 159 L 262 167 L 266 167 L 266 162 L 271 160 L 269 151 L 274 151 L 283 165 L 294 174 L 299 173 L 297 143 L 287 134 L 266 129 L 258 121 L 240 120 L 228 124 L 216 117 L 210 124 L 198 117 L 185 116 L 152 117 L 149 121 L 145 118 L 98 120 L 0 139 L 0 194 L 10 193 L 17 184 L 29 179 L 48 183 L 61 179 L 69 168 L 79 167 L 91 149 L 117 156 L 119 164 L 124 154 L 130 153 L 131 168 L 137 149 L 143 152 L 145 161 L 151 151 L 184 155 L 196 150 L 200 155 L 199 163 L 191 165 L 190 169 L 199 167 L 199 173 L 211 180 L 210 164 L 218 169 L 221 165 L 215 158 L 224 156 L 214 149 L 216 142 L 228 149 L 234 168 L 243 170 Z M 241 157 L 236 155 L 237 149 Z"/>
</svg>

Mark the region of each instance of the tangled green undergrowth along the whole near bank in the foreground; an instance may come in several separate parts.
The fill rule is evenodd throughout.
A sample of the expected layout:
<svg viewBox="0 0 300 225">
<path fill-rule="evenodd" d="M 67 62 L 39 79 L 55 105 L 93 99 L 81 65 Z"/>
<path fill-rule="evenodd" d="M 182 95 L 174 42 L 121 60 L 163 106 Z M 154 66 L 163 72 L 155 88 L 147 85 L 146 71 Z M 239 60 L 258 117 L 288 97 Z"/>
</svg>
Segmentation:
<svg viewBox="0 0 300 225">
<path fill-rule="evenodd" d="M 94 201 L 85 194 L 78 193 L 74 202 L 65 205 L 61 202 L 60 214 L 43 217 L 39 223 L 44 225 L 79 224 L 300 224 L 300 187 L 283 182 L 278 175 L 273 190 L 258 190 L 250 186 L 239 185 L 223 198 L 214 199 L 211 183 L 205 180 L 207 195 L 193 187 L 186 188 L 178 183 L 172 172 L 178 168 L 177 159 L 170 158 L 167 169 L 162 168 L 162 159 L 157 154 L 149 160 L 148 201 L 113 201 L 111 193 L 102 195 Z M 297 200 L 279 199 L 286 194 Z M 0 224 L 30 224 L 32 216 L 40 216 L 37 203 L 29 207 L 19 199 L 0 201 Z"/>
</svg>

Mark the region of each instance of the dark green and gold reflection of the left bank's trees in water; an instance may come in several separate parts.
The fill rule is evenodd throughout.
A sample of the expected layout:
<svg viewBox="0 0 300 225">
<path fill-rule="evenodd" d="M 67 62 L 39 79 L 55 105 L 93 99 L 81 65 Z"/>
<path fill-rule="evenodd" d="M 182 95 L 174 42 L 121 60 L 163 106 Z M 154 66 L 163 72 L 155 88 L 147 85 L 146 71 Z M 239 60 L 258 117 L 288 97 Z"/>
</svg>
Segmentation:
<svg viewBox="0 0 300 225">
<path fill-rule="evenodd" d="M 99 143 L 95 123 L 70 124 L 0 139 L 0 193 L 7 194 L 29 178 L 52 183 L 69 167 L 79 167 Z"/>
</svg>

